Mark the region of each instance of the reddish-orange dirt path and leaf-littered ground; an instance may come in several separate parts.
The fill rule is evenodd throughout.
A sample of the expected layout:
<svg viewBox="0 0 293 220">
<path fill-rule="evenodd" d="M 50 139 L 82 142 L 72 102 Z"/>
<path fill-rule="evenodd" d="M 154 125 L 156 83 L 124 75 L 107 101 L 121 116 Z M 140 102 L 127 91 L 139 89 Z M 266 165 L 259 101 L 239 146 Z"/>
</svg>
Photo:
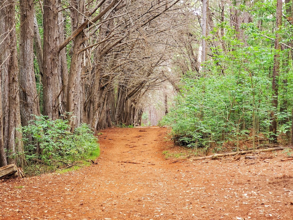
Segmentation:
<svg viewBox="0 0 293 220">
<path fill-rule="evenodd" d="M 162 155 L 174 148 L 166 128 L 102 133 L 97 165 L 0 182 L 0 219 L 293 219 L 293 163 L 281 151 L 176 162 Z"/>
</svg>

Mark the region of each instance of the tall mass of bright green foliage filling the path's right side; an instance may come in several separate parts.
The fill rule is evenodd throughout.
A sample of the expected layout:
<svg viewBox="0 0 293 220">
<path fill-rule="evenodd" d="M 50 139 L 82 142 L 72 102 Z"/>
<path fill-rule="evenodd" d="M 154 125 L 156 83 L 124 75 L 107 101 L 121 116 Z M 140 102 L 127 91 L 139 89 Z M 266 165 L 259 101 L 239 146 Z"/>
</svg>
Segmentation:
<svg viewBox="0 0 293 220">
<path fill-rule="evenodd" d="M 222 22 L 209 33 L 210 56 L 204 65 L 205 75 L 197 72 L 182 75 L 180 92 L 174 107 L 161 124 L 172 127 L 174 140 L 188 147 L 213 147 L 223 143 L 251 139 L 252 146 L 270 141 L 271 112 L 277 117 L 277 136 L 288 142 L 292 123 L 292 57 L 289 48 L 275 50 L 276 2 L 256 3 L 241 10 L 255 16 L 243 23 L 245 43 L 236 28 Z M 261 5 L 261 6 L 260 6 Z M 242 6 L 242 5 L 241 5 Z M 292 25 L 286 18 L 277 30 L 282 43 L 292 42 Z M 218 33 L 225 30 L 222 36 Z M 280 55 L 277 77 L 278 107 L 272 105 L 274 56 Z M 267 141 L 260 143 L 259 139 Z"/>
</svg>

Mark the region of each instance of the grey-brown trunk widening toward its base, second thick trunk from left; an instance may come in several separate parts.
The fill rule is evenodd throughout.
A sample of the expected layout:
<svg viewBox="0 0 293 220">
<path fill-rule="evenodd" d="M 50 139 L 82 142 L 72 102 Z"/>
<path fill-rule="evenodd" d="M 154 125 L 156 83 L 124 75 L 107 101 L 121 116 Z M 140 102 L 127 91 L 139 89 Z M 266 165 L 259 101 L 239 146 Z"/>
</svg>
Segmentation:
<svg viewBox="0 0 293 220">
<path fill-rule="evenodd" d="M 40 104 L 34 72 L 34 5 L 33 0 L 20 0 L 19 85 L 21 123 L 40 115 Z"/>
</svg>

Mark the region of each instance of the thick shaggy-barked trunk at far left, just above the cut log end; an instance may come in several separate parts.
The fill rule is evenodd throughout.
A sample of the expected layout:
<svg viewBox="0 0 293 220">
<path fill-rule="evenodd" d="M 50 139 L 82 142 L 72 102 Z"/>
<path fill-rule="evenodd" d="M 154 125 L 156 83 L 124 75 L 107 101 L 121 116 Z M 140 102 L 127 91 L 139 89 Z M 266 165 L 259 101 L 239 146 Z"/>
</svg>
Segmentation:
<svg viewBox="0 0 293 220">
<path fill-rule="evenodd" d="M 3 138 L 4 149 L 8 152 L 6 161 L 2 164 L 19 163 L 23 165 L 23 148 L 21 132 L 15 128 L 21 126 L 18 60 L 15 27 L 14 0 L 1 1 L 0 6 L 0 36 L 1 36 L 1 89 L 3 98 Z M 1 147 L 2 148 L 2 147 Z M 1 150 L 2 151 L 2 150 Z M 3 158 L 3 155 L 2 157 Z"/>
</svg>

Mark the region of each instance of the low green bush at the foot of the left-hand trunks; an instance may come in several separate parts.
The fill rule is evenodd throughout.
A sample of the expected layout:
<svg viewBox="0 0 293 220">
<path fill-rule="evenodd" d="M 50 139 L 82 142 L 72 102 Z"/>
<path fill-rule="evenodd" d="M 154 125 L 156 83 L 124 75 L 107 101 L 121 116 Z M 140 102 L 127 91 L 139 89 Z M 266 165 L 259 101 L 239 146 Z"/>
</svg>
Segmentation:
<svg viewBox="0 0 293 220">
<path fill-rule="evenodd" d="M 85 123 L 71 133 L 68 120 L 35 116 L 28 126 L 19 129 L 23 133 L 26 175 L 39 175 L 66 167 L 74 170 L 89 165 L 86 160 L 95 160 L 100 155 L 98 139 Z M 73 164 L 76 165 L 71 166 Z"/>
</svg>

